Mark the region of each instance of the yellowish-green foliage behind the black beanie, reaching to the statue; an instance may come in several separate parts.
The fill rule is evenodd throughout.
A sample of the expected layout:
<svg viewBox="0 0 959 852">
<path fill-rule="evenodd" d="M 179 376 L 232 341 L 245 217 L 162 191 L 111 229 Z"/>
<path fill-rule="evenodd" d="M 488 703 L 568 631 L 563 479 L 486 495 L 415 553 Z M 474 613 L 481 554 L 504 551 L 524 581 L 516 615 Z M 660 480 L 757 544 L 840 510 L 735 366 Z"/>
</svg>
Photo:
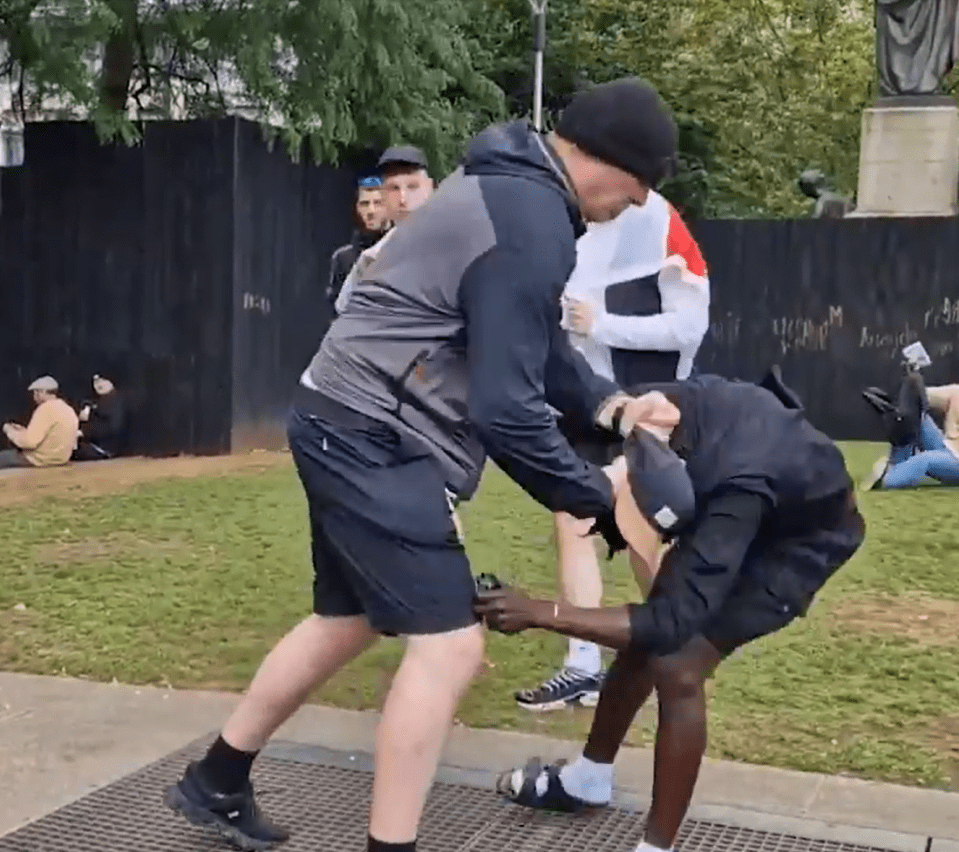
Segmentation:
<svg viewBox="0 0 959 852">
<path fill-rule="evenodd" d="M 485 0 L 481 65 L 515 113 L 531 103 L 527 0 Z M 664 194 L 691 216 L 807 215 L 796 190 L 818 166 L 856 186 L 873 86 L 872 0 L 551 0 L 550 111 L 577 85 L 653 83 L 680 124 L 682 169 Z"/>
</svg>

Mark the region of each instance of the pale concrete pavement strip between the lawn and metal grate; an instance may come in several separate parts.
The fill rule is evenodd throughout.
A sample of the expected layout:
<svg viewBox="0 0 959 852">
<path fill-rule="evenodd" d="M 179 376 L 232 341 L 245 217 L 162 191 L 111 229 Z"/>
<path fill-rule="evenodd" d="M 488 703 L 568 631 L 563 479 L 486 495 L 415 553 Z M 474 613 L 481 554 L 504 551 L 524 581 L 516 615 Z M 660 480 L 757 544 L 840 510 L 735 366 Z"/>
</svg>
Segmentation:
<svg viewBox="0 0 959 852">
<path fill-rule="evenodd" d="M 0 835 L 215 731 L 232 693 L 100 684 L 0 672 Z M 370 753 L 377 715 L 303 708 L 277 740 Z M 452 772 L 499 772 L 581 744 L 457 727 Z M 647 801 L 652 754 L 624 749 L 617 795 Z M 959 795 L 816 773 L 707 761 L 691 817 L 924 852 L 959 852 Z M 855 837 L 855 840 L 853 840 Z"/>
</svg>

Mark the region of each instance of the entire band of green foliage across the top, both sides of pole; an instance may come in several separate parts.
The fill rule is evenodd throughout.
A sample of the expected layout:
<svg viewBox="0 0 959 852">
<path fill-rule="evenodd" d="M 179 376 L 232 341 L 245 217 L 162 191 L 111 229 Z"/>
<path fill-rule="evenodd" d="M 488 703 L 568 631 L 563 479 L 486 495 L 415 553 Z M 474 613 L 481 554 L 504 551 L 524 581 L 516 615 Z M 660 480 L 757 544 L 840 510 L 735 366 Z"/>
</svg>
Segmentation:
<svg viewBox="0 0 959 852">
<path fill-rule="evenodd" d="M 873 0 L 550 0 L 547 12 L 547 127 L 588 82 L 645 77 L 680 124 L 682 168 L 663 191 L 688 215 L 807 215 L 796 179 L 809 167 L 854 193 Z M 528 0 L 0 0 L 28 107 L 55 95 L 131 137 L 106 78 L 125 80 L 132 48 L 120 92 L 142 115 L 174 103 L 216 115 L 239 99 L 294 151 L 308 139 L 335 161 L 403 140 L 439 172 L 489 121 L 529 114 L 531 33 Z"/>
</svg>

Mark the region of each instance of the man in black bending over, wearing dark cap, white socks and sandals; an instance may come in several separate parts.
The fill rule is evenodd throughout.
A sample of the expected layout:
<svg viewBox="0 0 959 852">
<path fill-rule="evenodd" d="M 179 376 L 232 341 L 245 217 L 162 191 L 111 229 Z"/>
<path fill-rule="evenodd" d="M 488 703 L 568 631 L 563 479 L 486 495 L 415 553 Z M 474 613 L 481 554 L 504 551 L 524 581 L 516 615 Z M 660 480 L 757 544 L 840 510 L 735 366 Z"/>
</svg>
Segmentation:
<svg viewBox="0 0 959 852">
<path fill-rule="evenodd" d="M 634 388 L 639 392 L 643 388 Z M 530 808 L 609 803 L 613 761 L 655 689 L 652 804 L 640 852 L 673 847 L 706 747 L 705 683 L 737 648 L 805 615 L 858 550 L 865 524 L 839 449 L 774 369 L 762 386 L 716 376 L 649 386 L 616 464 L 611 549 L 652 527 L 672 547 L 644 604 L 579 609 L 502 586 L 478 593 L 494 629 L 537 627 L 617 650 L 582 754 L 537 758 L 498 788 Z"/>
</svg>

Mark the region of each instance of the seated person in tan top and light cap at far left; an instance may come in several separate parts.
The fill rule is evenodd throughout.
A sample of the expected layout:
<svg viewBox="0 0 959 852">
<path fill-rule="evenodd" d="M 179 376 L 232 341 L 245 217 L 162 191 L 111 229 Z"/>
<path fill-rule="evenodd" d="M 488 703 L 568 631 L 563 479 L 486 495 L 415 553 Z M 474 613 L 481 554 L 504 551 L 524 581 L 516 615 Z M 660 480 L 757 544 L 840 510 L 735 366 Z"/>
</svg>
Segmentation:
<svg viewBox="0 0 959 852">
<path fill-rule="evenodd" d="M 13 449 L 0 450 L 0 468 L 56 467 L 67 464 L 77 446 L 80 421 L 60 397 L 52 376 L 41 376 L 27 390 L 36 405 L 26 426 L 4 423 L 3 434 Z"/>
</svg>

